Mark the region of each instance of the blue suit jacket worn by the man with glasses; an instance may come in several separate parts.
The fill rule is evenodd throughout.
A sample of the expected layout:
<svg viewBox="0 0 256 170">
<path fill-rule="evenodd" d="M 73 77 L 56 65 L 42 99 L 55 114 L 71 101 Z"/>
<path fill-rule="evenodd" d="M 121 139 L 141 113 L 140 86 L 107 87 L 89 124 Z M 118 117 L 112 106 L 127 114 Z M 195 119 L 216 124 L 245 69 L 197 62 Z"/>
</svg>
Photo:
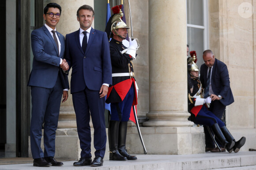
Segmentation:
<svg viewBox="0 0 256 170">
<path fill-rule="evenodd" d="M 63 59 L 65 50 L 65 38 L 59 32 L 56 32 L 56 34 L 61 44 L 60 57 L 58 57 L 53 36 L 45 25 L 32 31 L 31 47 L 34 58 L 28 86 L 52 88 L 60 72 L 63 89 L 69 89 L 68 74 L 60 69 L 60 58 Z"/>
</svg>

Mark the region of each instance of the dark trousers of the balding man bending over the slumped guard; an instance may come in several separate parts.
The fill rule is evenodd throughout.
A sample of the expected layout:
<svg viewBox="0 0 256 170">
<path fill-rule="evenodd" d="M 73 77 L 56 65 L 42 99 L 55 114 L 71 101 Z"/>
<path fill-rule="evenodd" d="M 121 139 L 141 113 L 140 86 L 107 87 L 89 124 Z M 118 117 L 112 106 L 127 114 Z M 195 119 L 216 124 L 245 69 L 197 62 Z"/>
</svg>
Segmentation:
<svg viewBox="0 0 256 170">
<path fill-rule="evenodd" d="M 212 101 L 209 111 L 211 111 L 218 119 L 222 119 L 223 113 L 226 109 L 226 106 L 223 105 L 220 101 Z M 204 134 L 205 134 L 205 145 L 207 148 L 215 148 L 215 142 L 212 140 L 211 135 L 209 134 L 207 127 L 203 126 Z M 220 147 L 223 147 L 220 142 L 217 143 Z"/>
</svg>

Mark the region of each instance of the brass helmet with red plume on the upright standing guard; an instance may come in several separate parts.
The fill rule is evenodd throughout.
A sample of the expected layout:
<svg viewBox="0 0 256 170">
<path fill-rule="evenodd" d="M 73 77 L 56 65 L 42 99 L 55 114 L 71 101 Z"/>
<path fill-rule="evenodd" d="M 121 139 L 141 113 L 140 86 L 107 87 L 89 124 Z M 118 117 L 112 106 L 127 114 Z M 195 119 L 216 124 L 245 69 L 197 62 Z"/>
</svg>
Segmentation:
<svg viewBox="0 0 256 170">
<path fill-rule="evenodd" d="M 117 36 L 119 36 L 122 39 L 125 39 L 122 36 L 120 36 L 116 31 L 116 29 L 120 29 L 120 28 L 130 29 L 125 24 L 125 22 L 121 19 L 124 16 L 124 14 L 123 14 L 123 12 L 121 11 L 121 9 L 119 8 L 118 5 L 113 7 L 112 11 L 113 11 L 114 14 L 109 18 L 109 21 L 106 25 L 105 32 L 107 33 L 109 38 L 113 37 L 113 33 L 112 33 L 112 31 L 113 31 Z"/>
</svg>

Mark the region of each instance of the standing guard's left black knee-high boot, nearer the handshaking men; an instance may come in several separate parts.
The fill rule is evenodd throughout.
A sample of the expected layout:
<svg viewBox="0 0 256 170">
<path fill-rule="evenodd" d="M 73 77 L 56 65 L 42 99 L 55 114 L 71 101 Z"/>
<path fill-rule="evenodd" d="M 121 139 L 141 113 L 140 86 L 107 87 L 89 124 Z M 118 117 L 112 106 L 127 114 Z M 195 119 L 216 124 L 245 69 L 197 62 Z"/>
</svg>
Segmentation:
<svg viewBox="0 0 256 170">
<path fill-rule="evenodd" d="M 121 156 L 118 151 L 119 121 L 109 120 L 109 160 L 125 161 L 126 157 Z"/>
</svg>

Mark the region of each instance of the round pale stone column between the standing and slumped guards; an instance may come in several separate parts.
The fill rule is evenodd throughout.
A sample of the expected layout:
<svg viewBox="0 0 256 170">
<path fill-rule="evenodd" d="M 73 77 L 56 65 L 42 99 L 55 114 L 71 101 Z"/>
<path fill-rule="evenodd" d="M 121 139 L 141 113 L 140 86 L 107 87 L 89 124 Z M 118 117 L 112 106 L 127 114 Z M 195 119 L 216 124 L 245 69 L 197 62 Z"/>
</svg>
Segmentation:
<svg viewBox="0 0 256 170">
<path fill-rule="evenodd" d="M 185 0 L 149 1 L 150 121 L 145 126 L 191 126 L 187 121 Z"/>
</svg>

